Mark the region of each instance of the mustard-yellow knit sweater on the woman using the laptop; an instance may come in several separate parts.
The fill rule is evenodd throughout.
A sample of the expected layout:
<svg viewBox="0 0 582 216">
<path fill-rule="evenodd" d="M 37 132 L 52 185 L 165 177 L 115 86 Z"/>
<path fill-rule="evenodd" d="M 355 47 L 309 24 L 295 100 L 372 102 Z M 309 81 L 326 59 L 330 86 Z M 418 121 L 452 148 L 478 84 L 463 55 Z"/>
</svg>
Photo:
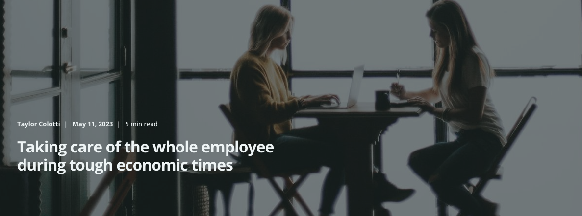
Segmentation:
<svg viewBox="0 0 582 216">
<path fill-rule="evenodd" d="M 246 52 L 230 74 L 230 109 L 249 139 L 239 143 L 267 143 L 272 135 L 291 129 L 299 103 L 274 60 Z"/>
</svg>

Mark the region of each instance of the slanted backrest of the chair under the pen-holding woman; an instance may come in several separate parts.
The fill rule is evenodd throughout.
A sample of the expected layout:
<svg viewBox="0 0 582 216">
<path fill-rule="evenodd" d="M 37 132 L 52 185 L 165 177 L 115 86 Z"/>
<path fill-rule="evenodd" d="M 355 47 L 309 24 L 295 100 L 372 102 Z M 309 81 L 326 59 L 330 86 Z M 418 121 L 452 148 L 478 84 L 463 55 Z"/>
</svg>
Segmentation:
<svg viewBox="0 0 582 216">
<path fill-rule="evenodd" d="M 517 117 L 517 120 L 513 125 L 513 128 L 509 130 L 509 133 L 506 138 L 507 143 L 503 147 L 502 152 L 499 153 L 499 155 L 497 156 L 497 159 L 494 161 L 494 165 L 498 165 L 499 163 L 501 163 L 505 155 L 509 152 L 509 149 L 513 146 L 513 143 L 517 139 L 517 136 L 519 136 L 519 134 L 523 130 L 523 127 L 526 125 L 527 121 L 530 120 L 530 117 L 534 113 L 535 109 L 537 109 L 538 105 L 536 102 L 537 98 L 535 97 L 531 97 L 530 100 L 527 102 L 526 107 L 523 109 L 523 111 L 521 111 L 519 117 Z"/>
</svg>

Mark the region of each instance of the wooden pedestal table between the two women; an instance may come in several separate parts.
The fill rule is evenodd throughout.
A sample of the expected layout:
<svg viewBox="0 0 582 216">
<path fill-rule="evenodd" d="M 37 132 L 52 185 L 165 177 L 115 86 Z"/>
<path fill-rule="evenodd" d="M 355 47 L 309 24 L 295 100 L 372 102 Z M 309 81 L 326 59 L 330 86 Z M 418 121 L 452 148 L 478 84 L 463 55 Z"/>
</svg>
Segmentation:
<svg viewBox="0 0 582 216">
<path fill-rule="evenodd" d="M 401 117 L 420 116 L 418 107 L 374 110 L 360 102 L 349 109 L 305 109 L 294 117 L 317 118 L 319 124 L 338 128 L 345 141 L 347 215 L 372 216 L 372 143 Z"/>
</svg>

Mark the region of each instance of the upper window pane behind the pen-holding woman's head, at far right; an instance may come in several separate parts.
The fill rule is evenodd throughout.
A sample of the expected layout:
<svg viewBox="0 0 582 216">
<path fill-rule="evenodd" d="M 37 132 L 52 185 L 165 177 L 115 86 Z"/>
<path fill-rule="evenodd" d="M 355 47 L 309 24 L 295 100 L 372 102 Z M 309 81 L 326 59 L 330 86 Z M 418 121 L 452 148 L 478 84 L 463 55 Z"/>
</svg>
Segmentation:
<svg viewBox="0 0 582 216">
<path fill-rule="evenodd" d="M 460 0 L 493 67 L 582 65 L 580 1 Z"/>
</svg>

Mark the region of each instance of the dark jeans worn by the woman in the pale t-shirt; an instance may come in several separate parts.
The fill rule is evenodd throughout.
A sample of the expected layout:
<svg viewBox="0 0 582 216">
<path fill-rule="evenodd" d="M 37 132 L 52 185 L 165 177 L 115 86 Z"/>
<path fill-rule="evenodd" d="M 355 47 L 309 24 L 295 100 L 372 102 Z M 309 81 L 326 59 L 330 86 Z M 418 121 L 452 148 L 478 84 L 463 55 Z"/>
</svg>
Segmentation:
<svg viewBox="0 0 582 216">
<path fill-rule="evenodd" d="M 487 171 L 501 149 L 501 141 L 495 135 L 481 129 L 466 130 L 457 133 L 456 141 L 414 151 L 409 166 L 431 186 L 439 200 L 466 214 L 481 216 L 482 202 L 471 196 L 463 184 Z"/>
</svg>

